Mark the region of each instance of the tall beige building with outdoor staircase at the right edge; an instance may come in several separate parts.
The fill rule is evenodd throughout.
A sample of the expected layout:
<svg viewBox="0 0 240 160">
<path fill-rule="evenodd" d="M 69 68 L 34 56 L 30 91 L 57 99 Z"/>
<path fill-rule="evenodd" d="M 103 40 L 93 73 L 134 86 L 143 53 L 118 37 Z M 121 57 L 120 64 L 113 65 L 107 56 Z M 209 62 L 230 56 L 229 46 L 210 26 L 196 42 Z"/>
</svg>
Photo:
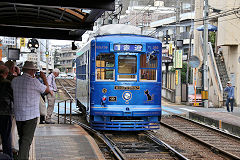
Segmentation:
<svg viewBox="0 0 240 160">
<path fill-rule="evenodd" d="M 209 24 L 217 30 L 208 33 L 208 99 L 209 106 L 225 105 L 226 95 L 223 89 L 227 81 L 235 87 L 235 105 L 240 105 L 240 1 L 209 0 Z M 203 60 L 203 31 L 197 27 L 203 25 L 202 0 L 196 0 L 195 29 L 194 29 L 194 54 Z M 219 54 L 221 53 L 221 54 Z M 220 56 L 222 55 L 221 59 Z M 200 77 L 201 79 L 201 77 Z"/>
</svg>

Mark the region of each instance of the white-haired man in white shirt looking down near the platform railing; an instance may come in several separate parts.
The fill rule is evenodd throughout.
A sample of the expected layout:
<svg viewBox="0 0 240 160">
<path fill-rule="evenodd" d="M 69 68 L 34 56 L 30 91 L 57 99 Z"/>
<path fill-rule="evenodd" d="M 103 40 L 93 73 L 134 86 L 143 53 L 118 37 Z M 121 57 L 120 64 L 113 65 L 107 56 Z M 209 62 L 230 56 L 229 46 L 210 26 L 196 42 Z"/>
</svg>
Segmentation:
<svg viewBox="0 0 240 160">
<path fill-rule="evenodd" d="M 47 99 L 48 99 L 48 107 L 47 107 L 47 117 L 45 123 L 47 124 L 53 124 L 54 122 L 51 121 L 52 117 L 52 112 L 54 109 L 54 104 L 55 104 L 55 99 L 56 95 L 55 93 L 57 92 L 57 85 L 55 82 L 56 77 L 59 75 L 59 69 L 55 68 L 53 72 L 47 77 L 47 81 L 49 84 L 49 88 L 51 91 L 53 91 L 53 95 L 48 94 Z"/>
</svg>

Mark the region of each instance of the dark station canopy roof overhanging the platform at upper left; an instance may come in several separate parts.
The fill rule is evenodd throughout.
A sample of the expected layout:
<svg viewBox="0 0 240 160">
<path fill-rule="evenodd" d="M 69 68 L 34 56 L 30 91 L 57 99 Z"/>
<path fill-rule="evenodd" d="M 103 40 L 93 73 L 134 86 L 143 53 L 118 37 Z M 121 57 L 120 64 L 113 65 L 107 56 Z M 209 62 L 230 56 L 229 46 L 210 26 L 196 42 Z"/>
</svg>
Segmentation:
<svg viewBox="0 0 240 160">
<path fill-rule="evenodd" d="M 81 40 L 114 0 L 2 0 L 0 36 Z"/>
</svg>

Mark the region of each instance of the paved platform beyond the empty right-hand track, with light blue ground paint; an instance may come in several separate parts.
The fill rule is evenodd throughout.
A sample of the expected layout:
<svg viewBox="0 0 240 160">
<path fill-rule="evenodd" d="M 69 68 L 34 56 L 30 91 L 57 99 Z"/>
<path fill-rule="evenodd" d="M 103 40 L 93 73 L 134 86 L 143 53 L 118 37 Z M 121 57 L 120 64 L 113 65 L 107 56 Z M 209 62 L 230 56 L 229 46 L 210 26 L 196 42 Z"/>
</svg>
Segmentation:
<svg viewBox="0 0 240 160">
<path fill-rule="evenodd" d="M 177 105 L 162 99 L 164 115 L 183 114 L 206 124 L 223 129 L 240 136 L 240 107 L 234 107 L 233 112 L 227 112 L 226 107 L 204 108 L 187 105 Z"/>
</svg>

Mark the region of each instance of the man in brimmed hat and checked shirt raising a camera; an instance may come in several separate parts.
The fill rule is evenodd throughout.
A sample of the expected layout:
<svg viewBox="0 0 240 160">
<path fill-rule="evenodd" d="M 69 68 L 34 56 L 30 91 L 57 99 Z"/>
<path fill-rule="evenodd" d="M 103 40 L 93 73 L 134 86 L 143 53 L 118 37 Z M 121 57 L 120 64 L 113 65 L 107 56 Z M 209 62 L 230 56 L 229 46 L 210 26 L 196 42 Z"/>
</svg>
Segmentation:
<svg viewBox="0 0 240 160">
<path fill-rule="evenodd" d="M 35 78 L 37 68 L 33 62 L 26 61 L 22 71 L 22 76 L 12 80 L 13 109 L 19 135 L 18 159 L 28 159 L 30 145 L 37 126 L 37 118 L 40 116 L 40 94 L 49 93 L 50 90 L 43 72 L 40 72 L 40 77 L 45 85 Z"/>
</svg>

